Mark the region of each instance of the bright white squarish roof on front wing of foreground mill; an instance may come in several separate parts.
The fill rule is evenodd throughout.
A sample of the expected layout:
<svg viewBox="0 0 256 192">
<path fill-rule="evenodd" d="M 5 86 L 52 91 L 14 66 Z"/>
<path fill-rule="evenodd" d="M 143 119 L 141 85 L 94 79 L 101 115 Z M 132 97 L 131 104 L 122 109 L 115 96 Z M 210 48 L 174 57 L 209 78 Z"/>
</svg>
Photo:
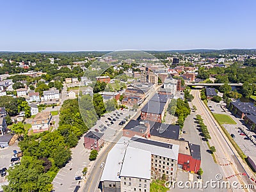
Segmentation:
<svg viewBox="0 0 256 192">
<path fill-rule="evenodd" d="M 146 150 L 127 147 L 121 177 L 136 177 L 150 179 L 151 177 L 151 154 Z"/>
</svg>

